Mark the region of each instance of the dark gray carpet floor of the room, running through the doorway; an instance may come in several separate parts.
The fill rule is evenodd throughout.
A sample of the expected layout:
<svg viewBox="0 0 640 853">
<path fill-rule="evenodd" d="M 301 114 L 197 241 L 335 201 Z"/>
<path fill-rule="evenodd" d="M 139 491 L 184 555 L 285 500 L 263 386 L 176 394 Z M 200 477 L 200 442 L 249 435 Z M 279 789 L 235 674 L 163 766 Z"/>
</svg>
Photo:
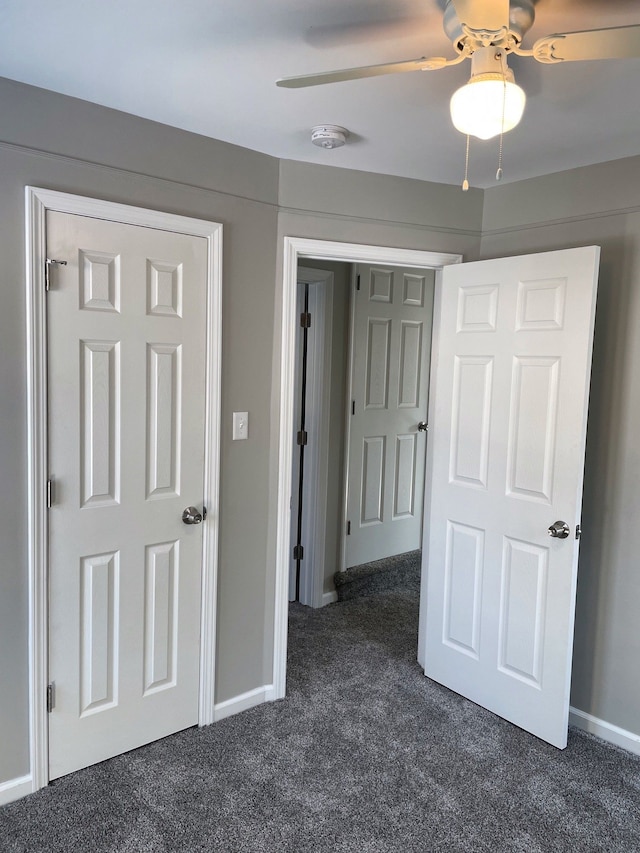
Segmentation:
<svg viewBox="0 0 640 853">
<path fill-rule="evenodd" d="M 288 698 L 0 809 L 2 853 L 640 850 L 640 760 L 430 682 L 412 589 L 291 611 Z"/>
</svg>

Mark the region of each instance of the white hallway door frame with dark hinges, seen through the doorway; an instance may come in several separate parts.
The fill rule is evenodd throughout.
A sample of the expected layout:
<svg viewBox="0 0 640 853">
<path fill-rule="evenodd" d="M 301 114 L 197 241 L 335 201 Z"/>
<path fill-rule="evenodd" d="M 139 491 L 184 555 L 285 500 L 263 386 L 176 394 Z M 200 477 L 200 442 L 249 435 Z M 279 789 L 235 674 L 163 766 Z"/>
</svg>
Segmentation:
<svg viewBox="0 0 640 853">
<path fill-rule="evenodd" d="M 333 273 L 298 268 L 299 283 L 314 285 L 310 293 L 310 347 L 307 360 L 307 433 L 312 437 L 305 452 L 302 490 L 305 557 L 300 566 L 300 603 L 322 607 L 323 562 L 327 526 L 329 464 L 329 408 L 331 388 L 331 334 L 333 329 Z M 298 306 L 297 313 L 300 313 Z M 300 326 L 296 325 L 300 334 Z M 292 436 L 295 436 L 294 424 Z M 313 440 L 315 439 L 315 440 Z M 296 444 L 293 441 L 292 452 Z M 291 551 L 289 552 L 291 555 Z"/>
</svg>

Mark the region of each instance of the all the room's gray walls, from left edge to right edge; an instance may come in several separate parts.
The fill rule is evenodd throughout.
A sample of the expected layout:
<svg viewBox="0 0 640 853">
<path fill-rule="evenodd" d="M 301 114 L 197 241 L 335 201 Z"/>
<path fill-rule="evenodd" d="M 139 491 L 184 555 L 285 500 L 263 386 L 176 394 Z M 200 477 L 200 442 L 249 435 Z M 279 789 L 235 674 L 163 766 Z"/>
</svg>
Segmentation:
<svg viewBox="0 0 640 853">
<path fill-rule="evenodd" d="M 271 679 L 282 238 L 467 259 L 600 244 L 572 701 L 639 731 L 640 158 L 463 194 L 279 163 L 10 81 L 0 109 L 0 783 L 29 770 L 27 184 L 224 225 L 218 702 Z M 252 416 L 248 442 L 230 440 L 234 410 Z"/>
</svg>

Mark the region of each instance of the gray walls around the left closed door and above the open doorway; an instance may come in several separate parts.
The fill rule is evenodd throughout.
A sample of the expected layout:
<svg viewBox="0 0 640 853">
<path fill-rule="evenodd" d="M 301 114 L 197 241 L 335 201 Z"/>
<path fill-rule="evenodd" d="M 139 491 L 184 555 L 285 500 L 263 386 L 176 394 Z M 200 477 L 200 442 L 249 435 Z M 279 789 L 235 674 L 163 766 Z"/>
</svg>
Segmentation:
<svg viewBox="0 0 640 853">
<path fill-rule="evenodd" d="M 24 187 L 224 225 L 217 702 L 271 681 L 282 236 L 476 257 L 482 193 L 279 163 L 2 79 L 0 114 L 1 784 L 29 772 Z M 234 410 L 247 442 L 231 441 Z"/>
</svg>

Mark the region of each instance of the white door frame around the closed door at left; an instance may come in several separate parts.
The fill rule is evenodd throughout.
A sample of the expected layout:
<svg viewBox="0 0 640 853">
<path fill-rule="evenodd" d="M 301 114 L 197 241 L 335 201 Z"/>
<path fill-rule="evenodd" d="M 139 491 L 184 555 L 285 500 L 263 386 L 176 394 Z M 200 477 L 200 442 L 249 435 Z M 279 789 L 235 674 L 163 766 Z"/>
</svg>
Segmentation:
<svg viewBox="0 0 640 853">
<path fill-rule="evenodd" d="M 47 324 L 45 295 L 46 212 L 91 216 L 173 231 L 207 240 L 206 421 L 200 686 L 198 724 L 214 720 L 218 505 L 220 467 L 220 366 L 222 225 L 141 207 L 26 187 L 27 459 L 29 564 L 29 734 L 32 791 L 49 782 L 48 719 L 48 478 Z M 215 405 L 213 405 L 215 404 Z"/>
</svg>

